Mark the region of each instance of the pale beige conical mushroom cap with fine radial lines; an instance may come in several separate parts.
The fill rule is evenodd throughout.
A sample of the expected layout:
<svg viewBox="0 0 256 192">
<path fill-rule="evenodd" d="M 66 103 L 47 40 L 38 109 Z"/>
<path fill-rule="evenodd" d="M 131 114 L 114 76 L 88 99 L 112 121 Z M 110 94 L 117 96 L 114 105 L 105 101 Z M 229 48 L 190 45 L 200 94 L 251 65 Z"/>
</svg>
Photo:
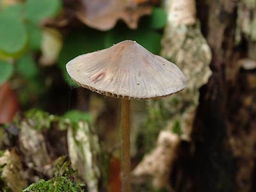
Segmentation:
<svg viewBox="0 0 256 192">
<path fill-rule="evenodd" d="M 131 40 L 77 56 L 66 67 L 80 86 L 123 99 L 166 97 L 186 85 L 175 64 Z"/>
</svg>

